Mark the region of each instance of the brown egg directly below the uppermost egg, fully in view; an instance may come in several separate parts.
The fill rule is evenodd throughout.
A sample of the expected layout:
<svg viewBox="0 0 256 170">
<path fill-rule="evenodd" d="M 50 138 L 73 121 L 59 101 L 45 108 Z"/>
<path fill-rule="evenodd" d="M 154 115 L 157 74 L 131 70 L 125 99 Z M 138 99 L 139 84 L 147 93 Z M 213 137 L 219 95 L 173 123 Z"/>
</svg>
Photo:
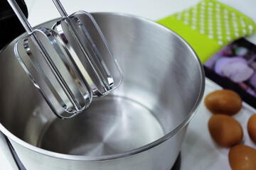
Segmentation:
<svg viewBox="0 0 256 170">
<path fill-rule="evenodd" d="M 242 126 L 230 115 L 215 114 L 208 121 L 210 136 L 220 147 L 232 147 L 242 141 Z"/>
</svg>

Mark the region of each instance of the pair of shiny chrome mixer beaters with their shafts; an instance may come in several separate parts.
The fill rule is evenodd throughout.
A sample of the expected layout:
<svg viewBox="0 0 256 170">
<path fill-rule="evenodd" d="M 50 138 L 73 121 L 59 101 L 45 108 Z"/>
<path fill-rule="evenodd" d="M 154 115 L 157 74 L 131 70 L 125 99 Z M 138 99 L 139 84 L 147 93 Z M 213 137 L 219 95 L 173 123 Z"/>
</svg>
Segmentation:
<svg viewBox="0 0 256 170">
<path fill-rule="evenodd" d="M 72 118 L 87 108 L 92 96 L 105 96 L 122 82 L 122 71 L 95 19 L 85 11 L 62 18 L 52 29 L 33 30 L 15 0 L 7 0 L 28 35 L 15 55 L 36 88 L 59 118 Z"/>
</svg>

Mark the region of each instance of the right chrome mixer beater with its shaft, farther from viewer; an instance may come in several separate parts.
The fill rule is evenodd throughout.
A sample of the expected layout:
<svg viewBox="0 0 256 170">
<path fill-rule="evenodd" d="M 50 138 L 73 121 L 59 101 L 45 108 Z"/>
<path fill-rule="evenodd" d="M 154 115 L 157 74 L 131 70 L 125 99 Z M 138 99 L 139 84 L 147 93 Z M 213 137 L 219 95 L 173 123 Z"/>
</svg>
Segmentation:
<svg viewBox="0 0 256 170">
<path fill-rule="evenodd" d="M 78 68 L 80 69 L 80 65 L 82 64 L 83 67 L 80 69 L 82 74 L 87 72 L 86 69 L 92 69 L 91 73 L 89 72 L 90 76 L 85 75 L 84 77 L 87 83 L 90 84 L 93 94 L 95 96 L 105 96 L 109 94 L 110 91 L 117 88 L 121 83 L 122 71 L 114 59 L 109 45 L 94 18 L 90 13 L 85 11 L 79 11 L 68 16 L 68 13 L 66 13 L 65 8 L 59 0 L 53 0 L 53 4 L 55 4 L 62 17 L 54 27 L 58 30 L 58 33 L 60 33 L 63 42 L 74 50 L 79 47 L 80 52 L 75 50 L 75 53 L 80 54 L 78 56 L 81 62 L 77 64 Z M 65 31 L 63 25 L 68 27 L 67 31 Z M 69 38 L 68 35 L 71 35 L 71 38 Z M 70 40 L 75 40 L 75 43 L 71 43 L 72 45 L 70 45 Z M 82 57 L 84 59 L 81 59 Z M 85 59 L 87 59 L 87 64 L 85 64 L 86 62 L 82 62 Z M 110 67 L 117 67 L 115 71 L 120 74 L 119 78 L 121 77 L 121 79 L 119 79 L 119 81 L 113 79 L 105 64 L 106 60 L 114 62 Z M 77 62 L 76 60 L 74 61 Z M 93 80 L 91 79 L 92 77 L 94 77 Z"/>
</svg>

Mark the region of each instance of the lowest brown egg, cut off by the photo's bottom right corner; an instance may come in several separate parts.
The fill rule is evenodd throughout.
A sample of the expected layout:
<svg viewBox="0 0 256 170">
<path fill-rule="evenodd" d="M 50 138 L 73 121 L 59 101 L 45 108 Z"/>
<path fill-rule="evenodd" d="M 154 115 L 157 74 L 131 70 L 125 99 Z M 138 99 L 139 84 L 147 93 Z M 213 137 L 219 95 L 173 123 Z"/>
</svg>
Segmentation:
<svg viewBox="0 0 256 170">
<path fill-rule="evenodd" d="M 235 145 L 228 153 L 228 161 L 233 170 L 255 170 L 256 150 L 246 145 Z"/>
</svg>

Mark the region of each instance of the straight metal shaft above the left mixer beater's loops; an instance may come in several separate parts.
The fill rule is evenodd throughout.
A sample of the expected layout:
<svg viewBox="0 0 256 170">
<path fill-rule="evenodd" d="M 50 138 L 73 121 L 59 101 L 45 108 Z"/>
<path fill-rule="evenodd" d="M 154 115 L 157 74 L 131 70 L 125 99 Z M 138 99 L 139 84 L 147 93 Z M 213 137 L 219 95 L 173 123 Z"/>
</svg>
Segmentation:
<svg viewBox="0 0 256 170">
<path fill-rule="evenodd" d="M 33 33 L 33 28 L 28 23 L 28 20 L 26 19 L 26 16 L 21 11 L 21 8 L 18 6 L 15 0 L 7 0 L 11 6 L 11 8 L 14 10 L 14 13 L 16 13 L 16 16 L 18 17 L 18 20 L 21 22 L 22 26 L 25 28 L 26 32 L 30 35 Z"/>
</svg>

